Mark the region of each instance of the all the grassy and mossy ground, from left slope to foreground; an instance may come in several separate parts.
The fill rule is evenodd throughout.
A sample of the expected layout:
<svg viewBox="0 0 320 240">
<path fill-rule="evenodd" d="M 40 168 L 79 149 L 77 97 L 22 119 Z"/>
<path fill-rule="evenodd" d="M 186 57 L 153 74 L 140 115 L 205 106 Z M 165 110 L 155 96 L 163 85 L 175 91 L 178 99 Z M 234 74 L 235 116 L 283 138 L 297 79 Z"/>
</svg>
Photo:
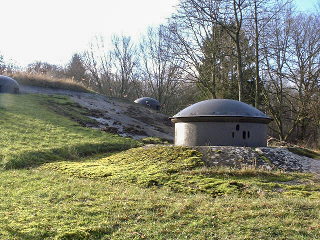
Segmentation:
<svg viewBox="0 0 320 240">
<path fill-rule="evenodd" d="M 319 239 L 320 181 L 208 168 L 84 127 L 64 96 L 0 94 L 0 239 Z"/>
</svg>

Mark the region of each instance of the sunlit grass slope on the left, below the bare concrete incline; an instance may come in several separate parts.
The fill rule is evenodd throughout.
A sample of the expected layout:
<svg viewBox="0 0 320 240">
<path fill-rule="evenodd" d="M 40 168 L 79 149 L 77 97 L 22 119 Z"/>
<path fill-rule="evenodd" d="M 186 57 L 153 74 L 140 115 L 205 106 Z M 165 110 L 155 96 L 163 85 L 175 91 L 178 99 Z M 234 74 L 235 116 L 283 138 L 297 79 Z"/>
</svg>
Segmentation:
<svg viewBox="0 0 320 240">
<path fill-rule="evenodd" d="M 85 111 L 63 96 L 0 94 L 0 168 L 76 159 L 137 144 L 133 139 L 82 127 L 92 123 Z"/>
</svg>

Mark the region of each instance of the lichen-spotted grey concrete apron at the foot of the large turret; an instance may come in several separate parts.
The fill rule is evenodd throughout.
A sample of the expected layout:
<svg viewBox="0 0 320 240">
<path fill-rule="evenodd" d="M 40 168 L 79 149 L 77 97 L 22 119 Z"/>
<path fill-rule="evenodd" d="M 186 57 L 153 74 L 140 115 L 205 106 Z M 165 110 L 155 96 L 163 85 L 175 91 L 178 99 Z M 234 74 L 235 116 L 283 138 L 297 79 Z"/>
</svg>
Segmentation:
<svg viewBox="0 0 320 240">
<path fill-rule="evenodd" d="M 300 156 L 283 147 L 192 146 L 203 153 L 208 166 L 242 167 L 254 165 L 288 172 L 320 173 L 320 159 Z"/>
</svg>

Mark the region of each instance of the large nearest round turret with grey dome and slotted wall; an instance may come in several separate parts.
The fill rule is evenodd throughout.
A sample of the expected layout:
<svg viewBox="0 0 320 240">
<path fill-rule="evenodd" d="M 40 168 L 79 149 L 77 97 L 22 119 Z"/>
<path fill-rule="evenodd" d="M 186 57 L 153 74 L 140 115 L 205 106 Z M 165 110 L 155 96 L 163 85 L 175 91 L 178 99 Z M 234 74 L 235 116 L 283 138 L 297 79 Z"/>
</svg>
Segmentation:
<svg viewBox="0 0 320 240">
<path fill-rule="evenodd" d="M 272 120 L 262 111 L 231 99 L 194 103 L 174 116 L 175 145 L 266 146 L 266 125 Z"/>
</svg>

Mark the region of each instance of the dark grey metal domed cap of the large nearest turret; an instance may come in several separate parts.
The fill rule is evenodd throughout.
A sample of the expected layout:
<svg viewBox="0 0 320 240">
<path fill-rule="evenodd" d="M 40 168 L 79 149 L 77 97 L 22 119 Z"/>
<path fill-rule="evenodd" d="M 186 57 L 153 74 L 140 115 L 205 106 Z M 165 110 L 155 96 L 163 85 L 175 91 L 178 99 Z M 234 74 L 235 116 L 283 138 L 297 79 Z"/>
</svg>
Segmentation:
<svg viewBox="0 0 320 240">
<path fill-rule="evenodd" d="M 174 116 L 172 122 L 249 121 L 269 123 L 272 118 L 244 102 L 231 99 L 209 99 L 194 103 Z"/>
</svg>

